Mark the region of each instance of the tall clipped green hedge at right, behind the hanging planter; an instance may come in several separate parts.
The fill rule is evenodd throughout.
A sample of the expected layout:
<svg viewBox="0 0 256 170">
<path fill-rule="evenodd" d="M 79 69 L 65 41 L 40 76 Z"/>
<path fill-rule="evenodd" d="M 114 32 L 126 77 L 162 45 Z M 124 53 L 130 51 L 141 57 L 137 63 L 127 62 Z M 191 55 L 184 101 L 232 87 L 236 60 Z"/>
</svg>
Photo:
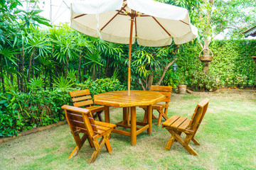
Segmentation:
<svg viewBox="0 0 256 170">
<path fill-rule="evenodd" d="M 178 53 L 179 72 L 185 74 L 188 85 L 192 84 L 193 71 L 203 70 L 203 63 L 198 60 L 201 47 L 189 42 Z M 213 61 L 209 65 L 209 74 L 218 77 L 218 86 L 255 86 L 256 40 L 214 40 L 210 44 Z"/>
</svg>

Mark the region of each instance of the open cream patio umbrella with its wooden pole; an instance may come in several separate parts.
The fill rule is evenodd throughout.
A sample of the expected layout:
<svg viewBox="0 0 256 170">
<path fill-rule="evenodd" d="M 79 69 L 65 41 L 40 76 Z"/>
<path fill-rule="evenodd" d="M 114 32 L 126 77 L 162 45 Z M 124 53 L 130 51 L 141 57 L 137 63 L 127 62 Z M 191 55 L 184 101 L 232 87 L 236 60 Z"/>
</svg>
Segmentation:
<svg viewBox="0 0 256 170">
<path fill-rule="evenodd" d="M 71 28 L 102 40 L 129 44 L 128 95 L 132 44 L 161 47 L 196 38 L 186 8 L 153 0 L 84 0 L 71 4 Z"/>
</svg>

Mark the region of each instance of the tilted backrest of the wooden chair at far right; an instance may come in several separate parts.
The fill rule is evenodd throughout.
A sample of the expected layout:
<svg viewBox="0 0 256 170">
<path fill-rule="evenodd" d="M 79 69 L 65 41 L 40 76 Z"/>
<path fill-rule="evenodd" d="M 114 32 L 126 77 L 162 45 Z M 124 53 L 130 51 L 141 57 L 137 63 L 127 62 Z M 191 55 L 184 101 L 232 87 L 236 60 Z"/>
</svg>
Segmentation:
<svg viewBox="0 0 256 170">
<path fill-rule="evenodd" d="M 190 130 L 196 130 L 199 128 L 199 125 L 201 124 L 204 115 L 206 114 L 207 108 L 208 108 L 208 103 L 210 99 L 205 98 L 203 101 L 201 101 L 197 106 L 196 109 L 192 115 L 191 118 L 191 123 L 188 125 L 188 128 Z"/>
</svg>

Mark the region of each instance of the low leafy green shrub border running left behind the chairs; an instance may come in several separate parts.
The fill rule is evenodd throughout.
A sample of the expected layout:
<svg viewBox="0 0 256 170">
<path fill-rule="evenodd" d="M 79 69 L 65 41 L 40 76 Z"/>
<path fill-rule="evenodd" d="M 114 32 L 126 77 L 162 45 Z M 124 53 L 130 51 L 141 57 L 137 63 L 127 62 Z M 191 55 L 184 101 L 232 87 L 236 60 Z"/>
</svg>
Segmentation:
<svg viewBox="0 0 256 170">
<path fill-rule="evenodd" d="M 31 82 L 32 84 L 33 82 Z M 65 118 L 60 108 L 72 105 L 69 91 L 90 89 L 93 95 L 107 91 L 126 90 L 118 79 L 87 80 L 75 88 L 56 88 L 53 91 L 39 90 L 35 86 L 26 93 L 0 93 L 0 137 L 17 135 L 18 132 L 57 123 Z"/>
</svg>

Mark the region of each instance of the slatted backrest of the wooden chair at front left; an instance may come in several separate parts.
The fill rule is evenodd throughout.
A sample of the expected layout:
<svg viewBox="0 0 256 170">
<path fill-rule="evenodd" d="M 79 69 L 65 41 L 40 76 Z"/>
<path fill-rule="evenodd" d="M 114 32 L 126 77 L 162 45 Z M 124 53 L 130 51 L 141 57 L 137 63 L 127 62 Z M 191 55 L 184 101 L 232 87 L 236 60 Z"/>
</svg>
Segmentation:
<svg viewBox="0 0 256 170">
<path fill-rule="evenodd" d="M 65 117 L 72 132 L 81 130 L 82 132 L 86 132 L 90 137 L 95 135 L 97 128 L 90 110 L 68 105 L 64 105 L 61 108 L 65 111 Z"/>
</svg>

